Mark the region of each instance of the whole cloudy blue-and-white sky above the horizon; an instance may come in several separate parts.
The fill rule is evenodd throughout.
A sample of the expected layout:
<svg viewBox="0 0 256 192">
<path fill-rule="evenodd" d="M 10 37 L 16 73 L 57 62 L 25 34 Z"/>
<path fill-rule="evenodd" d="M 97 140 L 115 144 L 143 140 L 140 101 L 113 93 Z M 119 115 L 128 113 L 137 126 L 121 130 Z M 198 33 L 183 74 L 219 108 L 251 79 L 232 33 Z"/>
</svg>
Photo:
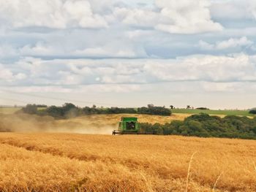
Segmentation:
<svg viewBox="0 0 256 192">
<path fill-rule="evenodd" d="M 256 107 L 255 0 L 0 0 L 0 105 Z"/>
</svg>

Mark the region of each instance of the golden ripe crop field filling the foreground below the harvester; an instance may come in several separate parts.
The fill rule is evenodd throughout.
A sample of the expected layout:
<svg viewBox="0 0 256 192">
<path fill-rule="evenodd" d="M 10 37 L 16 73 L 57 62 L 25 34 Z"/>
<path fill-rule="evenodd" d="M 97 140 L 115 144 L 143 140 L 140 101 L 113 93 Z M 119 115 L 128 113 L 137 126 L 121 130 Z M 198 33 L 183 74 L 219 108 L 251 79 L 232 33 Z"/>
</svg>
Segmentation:
<svg viewBox="0 0 256 192">
<path fill-rule="evenodd" d="M 0 191 L 256 191 L 252 140 L 1 133 L 0 147 Z"/>
</svg>

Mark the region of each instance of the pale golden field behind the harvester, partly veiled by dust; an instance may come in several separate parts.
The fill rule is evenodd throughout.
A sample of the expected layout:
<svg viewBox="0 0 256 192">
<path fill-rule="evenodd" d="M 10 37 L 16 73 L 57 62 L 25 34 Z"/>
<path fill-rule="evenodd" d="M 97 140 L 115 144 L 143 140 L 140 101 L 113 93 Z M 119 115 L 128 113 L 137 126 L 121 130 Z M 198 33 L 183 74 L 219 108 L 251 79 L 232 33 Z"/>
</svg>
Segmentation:
<svg viewBox="0 0 256 192">
<path fill-rule="evenodd" d="M 5 111 L 6 112 L 6 111 Z M 28 114 L 1 114 L 0 131 L 15 132 L 65 132 L 80 134 L 112 134 L 118 128 L 121 117 L 135 116 L 140 123 L 170 123 L 172 120 L 184 120 L 191 114 L 159 115 L 84 115 L 78 118 L 55 120 L 50 116 Z"/>
</svg>

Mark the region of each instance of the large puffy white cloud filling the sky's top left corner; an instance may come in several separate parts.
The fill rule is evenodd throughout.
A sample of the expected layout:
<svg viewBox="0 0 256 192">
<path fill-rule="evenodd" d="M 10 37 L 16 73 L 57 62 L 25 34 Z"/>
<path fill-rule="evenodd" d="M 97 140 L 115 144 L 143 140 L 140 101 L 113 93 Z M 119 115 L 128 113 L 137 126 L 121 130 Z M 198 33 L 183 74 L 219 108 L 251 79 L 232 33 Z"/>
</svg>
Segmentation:
<svg viewBox="0 0 256 192">
<path fill-rule="evenodd" d="M 105 19 L 91 10 L 86 0 L 0 1 L 0 20 L 15 28 L 102 28 Z"/>
</svg>

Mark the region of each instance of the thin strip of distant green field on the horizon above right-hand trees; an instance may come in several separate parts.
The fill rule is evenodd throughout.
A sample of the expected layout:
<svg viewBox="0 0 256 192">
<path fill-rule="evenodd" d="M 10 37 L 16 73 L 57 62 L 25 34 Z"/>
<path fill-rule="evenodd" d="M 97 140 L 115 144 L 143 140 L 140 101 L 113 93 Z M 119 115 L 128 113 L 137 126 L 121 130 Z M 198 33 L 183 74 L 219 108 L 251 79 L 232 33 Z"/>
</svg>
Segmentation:
<svg viewBox="0 0 256 192">
<path fill-rule="evenodd" d="M 186 113 L 186 114 L 199 114 L 200 112 L 207 113 L 209 115 L 241 115 L 241 116 L 254 116 L 249 114 L 248 110 L 186 110 L 186 109 L 174 109 L 173 113 Z"/>
</svg>

